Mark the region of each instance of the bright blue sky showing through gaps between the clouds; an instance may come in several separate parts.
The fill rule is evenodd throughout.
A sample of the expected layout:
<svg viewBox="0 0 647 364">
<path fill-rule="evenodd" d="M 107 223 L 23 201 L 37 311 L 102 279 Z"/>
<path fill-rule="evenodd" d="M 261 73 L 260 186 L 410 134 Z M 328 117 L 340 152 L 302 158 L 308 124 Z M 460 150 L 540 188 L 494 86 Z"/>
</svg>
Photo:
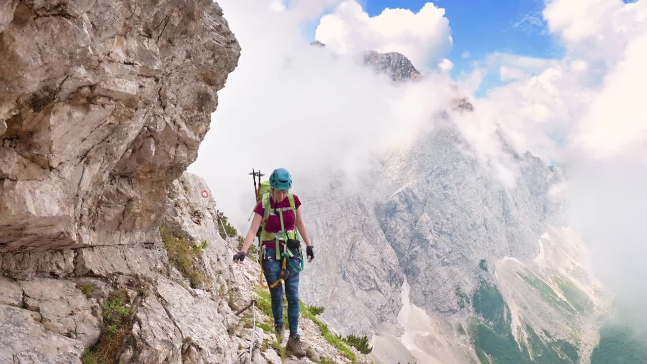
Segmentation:
<svg viewBox="0 0 647 364">
<path fill-rule="evenodd" d="M 418 12 L 426 0 L 361 0 L 370 16 L 379 15 L 384 8 L 408 8 Z M 454 45 L 446 54 L 452 63 L 452 76 L 470 72 L 474 61 L 483 61 L 488 54 L 503 52 L 538 58 L 560 58 L 562 49 L 547 33 L 543 22 L 542 0 L 439 0 L 433 2 L 444 8 L 452 30 Z M 495 5 L 496 4 L 496 5 Z M 316 24 L 307 27 L 314 40 Z M 463 52 L 471 54 L 463 58 Z M 477 96 L 487 89 L 503 85 L 498 74 L 488 74 Z"/>
</svg>

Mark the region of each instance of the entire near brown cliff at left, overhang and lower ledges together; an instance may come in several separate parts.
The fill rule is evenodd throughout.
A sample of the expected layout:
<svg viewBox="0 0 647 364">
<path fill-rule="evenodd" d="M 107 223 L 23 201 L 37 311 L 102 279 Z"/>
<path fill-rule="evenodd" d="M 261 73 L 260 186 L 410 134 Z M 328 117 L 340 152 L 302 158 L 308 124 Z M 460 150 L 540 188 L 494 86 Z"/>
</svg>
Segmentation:
<svg viewBox="0 0 647 364">
<path fill-rule="evenodd" d="M 0 363 L 281 363 L 258 263 L 182 174 L 239 52 L 208 0 L 0 0 Z M 300 362 L 367 362 L 322 325 Z"/>
</svg>

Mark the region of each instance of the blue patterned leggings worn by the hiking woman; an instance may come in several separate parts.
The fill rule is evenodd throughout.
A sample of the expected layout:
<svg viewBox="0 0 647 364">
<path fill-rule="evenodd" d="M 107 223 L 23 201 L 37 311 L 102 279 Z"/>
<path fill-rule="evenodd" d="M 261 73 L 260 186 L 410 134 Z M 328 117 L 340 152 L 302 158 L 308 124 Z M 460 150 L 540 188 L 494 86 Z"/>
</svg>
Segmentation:
<svg viewBox="0 0 647 364">
<path fill-rule="evenodd" d="M 294 258 L 289 258 L 294 267 L 301 266 L 301 256 L 298 249 L 290 249 Z M 267 249 L 265 260 L 263 260 L 263 269 L 265 270 L 265 280 L 267 285 L 279 279 L 281 271 L 281 260 L 276 260 L 276 249 Z M 290 333 L 296 334 L 299 330 L 299 271 L 291 266 L 290 262 L 285 264 L 286 269 L 290 271 L 289 277 L 285 280 L 285 298 L 287 298 L 287 321 L 290 324 Z M 283 322 L 283 286 L 278 284 L 270 288 L 272 296 L 272 314 L 275 323 Z"/>
</svg>

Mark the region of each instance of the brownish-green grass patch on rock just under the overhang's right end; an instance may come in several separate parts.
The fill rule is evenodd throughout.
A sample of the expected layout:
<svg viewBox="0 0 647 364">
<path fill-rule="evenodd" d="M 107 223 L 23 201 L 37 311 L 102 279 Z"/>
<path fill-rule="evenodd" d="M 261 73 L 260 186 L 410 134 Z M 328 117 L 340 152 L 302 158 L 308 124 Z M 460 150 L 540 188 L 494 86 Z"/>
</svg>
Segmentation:
<svg viewBox="0 0 647 364">
<path fill-rule="evenodd" d="M 169 262 L 191 282 L 192 288 L 209 286 L 211 280 L 196 269 L 197 258 L 202 255 L 206 241 L 193 244 L 183 234 L 163 226 L 160 227 L 160 235 L 164 242 L 164 249 L 168 252 Z"/>
</svg>

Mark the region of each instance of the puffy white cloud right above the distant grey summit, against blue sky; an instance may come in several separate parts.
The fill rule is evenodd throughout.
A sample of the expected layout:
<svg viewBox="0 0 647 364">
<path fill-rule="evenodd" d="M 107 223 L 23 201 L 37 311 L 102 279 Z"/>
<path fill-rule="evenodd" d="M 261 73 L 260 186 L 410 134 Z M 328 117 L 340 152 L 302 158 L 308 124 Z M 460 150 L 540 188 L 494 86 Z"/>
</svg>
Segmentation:
<svg viewBox="0 0 647 364">
<path fill-rule="evenodd" d="M 415 67 L 424 69 L 430 62 L 439 62 L 452 45 L 444 14 L 444 9 L 426 3 L 417 13 L 386 8 L 380 15 L 370 17 L 355 0 L 344 1 L 333 14 L 322 17 L 316 40 L 338 54 L 366 49 L 400 52 Z"/>
</svg>

